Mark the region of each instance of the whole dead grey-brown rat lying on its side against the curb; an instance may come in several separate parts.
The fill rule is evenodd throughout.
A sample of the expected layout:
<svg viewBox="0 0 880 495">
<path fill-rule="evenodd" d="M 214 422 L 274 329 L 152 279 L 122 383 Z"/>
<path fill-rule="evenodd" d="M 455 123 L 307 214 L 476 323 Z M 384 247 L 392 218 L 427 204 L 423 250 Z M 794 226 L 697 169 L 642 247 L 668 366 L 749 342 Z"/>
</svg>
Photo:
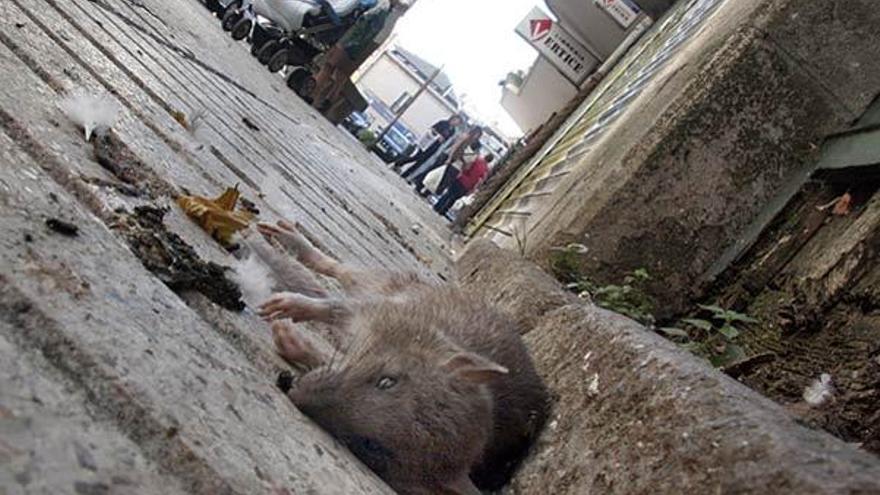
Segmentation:
<svg viewBox="0 0 880 495">
<path fill-rule="evenodd" d="M 511 320 L 457 287 L 343 265 L 290 223 L 259 230 L 346 293 L 320 294 L 303 277 L 309 295 L 276 294 L 261 307 L 281 355 L 311 369 L 288 393 L 297 408 L 401 494 L 506 484 L 548 403 Z M 342 348 L 327 355 L 311 346 L 293 325 L 310 320 L 342 329 Z"/>
</svg>

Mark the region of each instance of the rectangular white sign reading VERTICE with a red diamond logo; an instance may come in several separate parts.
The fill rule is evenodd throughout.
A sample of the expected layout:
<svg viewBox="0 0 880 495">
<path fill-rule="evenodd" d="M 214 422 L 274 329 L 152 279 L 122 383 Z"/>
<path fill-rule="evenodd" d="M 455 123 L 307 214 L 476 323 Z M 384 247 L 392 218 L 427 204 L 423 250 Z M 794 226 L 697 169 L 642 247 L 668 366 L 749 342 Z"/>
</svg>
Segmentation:
<svg viewBox="0 0 880 495">
<path fill-rule="evenodd" d="M 578 87 L 595 65 L 584 45 L 537 7 L 519 23 L 516 32 Z"/>
</svg>

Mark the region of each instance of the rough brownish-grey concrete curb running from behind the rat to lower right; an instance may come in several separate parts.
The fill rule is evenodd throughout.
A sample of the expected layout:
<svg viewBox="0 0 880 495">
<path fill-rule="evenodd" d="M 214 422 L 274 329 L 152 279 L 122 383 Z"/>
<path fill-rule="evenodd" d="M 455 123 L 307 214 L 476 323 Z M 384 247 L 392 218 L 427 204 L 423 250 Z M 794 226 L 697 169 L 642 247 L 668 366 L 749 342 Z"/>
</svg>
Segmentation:
<svg viewBox="0 0 880 495">
<path fill-rule="evenodd" d="M 508 305 L 536 322 L 526 342 L 556 398 L 513 493 L 880 493 L 876 457 L 798 425 L 632 320 L 571 303 L 558 284 L 554 297 L 549 275 L 513 257 L 475 242 L 458 262 L 479 267 L 463 277 L 471 290 L 555 301 Z"/>
</svg>

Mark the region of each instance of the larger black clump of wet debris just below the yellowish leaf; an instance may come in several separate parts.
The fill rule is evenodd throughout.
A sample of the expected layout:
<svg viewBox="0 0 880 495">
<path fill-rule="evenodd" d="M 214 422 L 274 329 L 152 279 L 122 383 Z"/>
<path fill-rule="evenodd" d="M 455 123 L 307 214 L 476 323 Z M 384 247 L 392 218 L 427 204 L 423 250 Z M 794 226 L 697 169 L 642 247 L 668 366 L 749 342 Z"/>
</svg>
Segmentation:
<svg viewBox="0 0 880 495">
<path fill-rule="evenodd" d="M 180 236 L 163 222 L 167 209 L 139 206 L 120 215 L 113 225 L 144 267 L 175 293 L 198 292 L 232 311 L 245 307 L 242 294 L 229 277 L 229 269 L 202 260 Z"/>
</svg>

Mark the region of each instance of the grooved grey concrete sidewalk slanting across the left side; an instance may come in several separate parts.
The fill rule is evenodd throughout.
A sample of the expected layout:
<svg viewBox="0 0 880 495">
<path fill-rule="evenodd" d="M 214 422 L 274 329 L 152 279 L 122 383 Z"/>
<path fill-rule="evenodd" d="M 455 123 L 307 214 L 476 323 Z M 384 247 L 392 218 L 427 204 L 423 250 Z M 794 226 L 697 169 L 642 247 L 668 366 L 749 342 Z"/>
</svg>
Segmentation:
<svg viewBox="0 0 880 495">
<path fill-rule="evenodd" d="M 275 389 L 264 323 L 144 268 L 122 235 L 141 206 L 235 260 L 170 198 L 126 194 L 58 108 L 108 95 L 153 185 L 240 184 L 342 260 L 449 277 L 444 222 L 247 50 L 196 1 L 0 3 L 0 492 L 388 493 Z"/>
</svg>

